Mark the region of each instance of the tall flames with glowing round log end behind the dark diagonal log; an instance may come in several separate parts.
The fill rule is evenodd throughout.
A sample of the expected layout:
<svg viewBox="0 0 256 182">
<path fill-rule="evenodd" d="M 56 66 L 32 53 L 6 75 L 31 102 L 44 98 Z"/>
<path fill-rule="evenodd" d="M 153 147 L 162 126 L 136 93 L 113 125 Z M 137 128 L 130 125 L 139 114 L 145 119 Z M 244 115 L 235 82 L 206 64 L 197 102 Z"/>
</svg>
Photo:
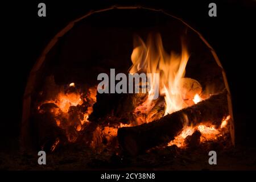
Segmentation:
<svg viewBox="0 0 256 182">
<path fill-rule="evenodd" d="M 151 85 L 148 98 L 154 94 L 155 85 L 159 84 L 159 93 L 164 97 L 164 115 L 174 113 L 201 100 L 199 94 L 202 88 L 199 82 L 184 77 L 188 59 L 189 53 L 184 41 L 181 42 L 179 55 L 175 52 L 168 54 L 164 51 L 160 34 L 157 34 L 155 38 L 149 36 L 147 43 L 139 37 L 134 39 L 134 49 L 131 54 L 133 65 L 129 72 L 132 74 L 137 72 L 159 73 L 159 83 L 154 78 L 148 80 Z M 147 99 L 135 108 L 134 113 L 148 114 L 153 107 L 152 100 Z M 150 121 L 146 119 L 143 122 Z"/>
</svg>

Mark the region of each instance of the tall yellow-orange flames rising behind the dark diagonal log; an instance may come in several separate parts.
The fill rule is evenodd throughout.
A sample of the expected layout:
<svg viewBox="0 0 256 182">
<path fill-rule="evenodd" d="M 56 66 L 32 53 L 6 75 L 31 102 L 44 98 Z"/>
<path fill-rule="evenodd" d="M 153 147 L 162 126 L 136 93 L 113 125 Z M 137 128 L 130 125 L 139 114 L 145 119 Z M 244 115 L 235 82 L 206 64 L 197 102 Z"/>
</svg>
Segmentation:
<svg viewBox="0 0 256 182">
<path fill-rule="evenodd" d="M 131 55 L 133 65 L 129 72 L 136 73 L 142 71 L 160 74 L 159 91 L 164 96 L 166 102 L 164 115 L 188 106 L 184 102 L 180 90 L 188 58 L 189 55 L 184 42 L 181 44 L 181 54 L 177 55 L 174 52 L 168 54 L 164 51 L 160 34 L 157 34 L 155 38 L 150 35 L 147 44 L 139 37 L 134 39 L 134 49 Z M 155 84 L 155 79 L 151 79 L 149 95 L 154 94 Z M 150 102 L 148 102 L 148 105 L 150 105 Z"/>
</svg>

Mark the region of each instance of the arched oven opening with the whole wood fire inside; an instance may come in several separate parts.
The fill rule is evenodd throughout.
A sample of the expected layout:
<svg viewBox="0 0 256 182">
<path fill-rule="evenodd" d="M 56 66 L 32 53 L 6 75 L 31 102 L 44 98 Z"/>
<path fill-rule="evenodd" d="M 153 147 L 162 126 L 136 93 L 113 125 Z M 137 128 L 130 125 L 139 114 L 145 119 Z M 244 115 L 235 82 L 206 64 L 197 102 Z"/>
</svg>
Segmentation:
<svg viewBox="0 0 256 182">
<path fill-rule="evenodd" d="M 109 89 L 111 81 L 114 88 L 122 84 L 116 76 L 124 73 L 124 93 L 99 93 L 100 73 L 108 75 Z M 125 93 L 136 73 L 158 79 L 147 80 L 146 93 Z M 163 148 L 225 150 L 234 141 L 228 81 L 216 52 L 161 10 L 111 7 L 74 20 L 49 42 L 28 78 L 25 151 L 87 148 L 135 156 Z"/>
</svg>

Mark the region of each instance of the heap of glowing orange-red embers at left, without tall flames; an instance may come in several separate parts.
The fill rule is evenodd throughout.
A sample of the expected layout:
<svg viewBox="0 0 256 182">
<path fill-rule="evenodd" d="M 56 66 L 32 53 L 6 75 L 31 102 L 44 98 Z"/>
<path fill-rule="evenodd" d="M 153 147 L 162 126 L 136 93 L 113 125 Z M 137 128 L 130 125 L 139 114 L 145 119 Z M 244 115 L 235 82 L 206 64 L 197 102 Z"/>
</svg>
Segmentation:
<svg viewBox="0 0 256 182">
<path fill-rule="evenodd" d="M 70 89 L 69 89 L 70 88 Z M 53 100 L 46 100 L 38 106 L 40 114 L 44 114 L 49 107 L 49 113 L 55 118 L 57 127 L 64 130 L 69 142 L 76 142 L 78 133 L 84 129 L 89 115 L 93 111 L 93 104 L 96 102 L 96 86 L 88 89 L 87 93 L 82 93 L 75 88 L 75 83 L 69 84 L 67 90 L 61 90 Z M 48 104 L 48 105 L 47 105 Z M 50 105 L 49 105 L 50 104 Z M 85 105 L 86 109 L 81 110 Z M 51 151 L 60 143 L 60 139 L 52 145 Z"/>
</svg>

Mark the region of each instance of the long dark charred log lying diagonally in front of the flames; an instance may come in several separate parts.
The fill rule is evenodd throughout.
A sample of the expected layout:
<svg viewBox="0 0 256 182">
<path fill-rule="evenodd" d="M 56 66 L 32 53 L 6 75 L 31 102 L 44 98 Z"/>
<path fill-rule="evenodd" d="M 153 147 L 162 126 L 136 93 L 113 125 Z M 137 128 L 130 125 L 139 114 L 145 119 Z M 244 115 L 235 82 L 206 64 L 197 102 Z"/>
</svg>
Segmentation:
<svg viewBox="0 0 256 182">
<path fill-rule="evenodd" d="M 121 127 L 118 129 L 118 142 L 128 154 L 138 155 L 149 148 L 161 144 L 167 145 L 183 130 L 183 126 L 196 126 L 209 121 L 213 125 L 220 126 L 222 118 L 228 114 L 225 90 L 196 105 L 167 114 L 158 121 L 135 127 Z"/>
</svg>

